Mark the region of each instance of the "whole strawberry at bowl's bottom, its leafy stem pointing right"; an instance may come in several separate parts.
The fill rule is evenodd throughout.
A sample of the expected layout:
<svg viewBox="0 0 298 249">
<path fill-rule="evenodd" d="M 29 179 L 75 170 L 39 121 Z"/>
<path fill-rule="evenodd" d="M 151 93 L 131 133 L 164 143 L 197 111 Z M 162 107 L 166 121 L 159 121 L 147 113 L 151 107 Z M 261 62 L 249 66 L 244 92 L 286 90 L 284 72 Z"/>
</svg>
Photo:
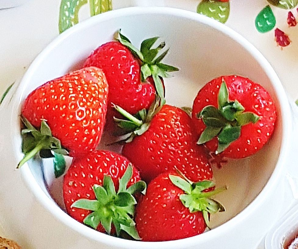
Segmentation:
<svg viewBox="0 0 298 249">
<path fill-rule="evenodd" d="M 191 182 L 177 174 L 163 173 L 153 179 L 136 207 L 136 228 L 144 241 L 178 240 L 203 233 L 209 227 L 209 214 L 224 211 L 211 196 L 226 187 L 211 181 Z"/>
</svg>

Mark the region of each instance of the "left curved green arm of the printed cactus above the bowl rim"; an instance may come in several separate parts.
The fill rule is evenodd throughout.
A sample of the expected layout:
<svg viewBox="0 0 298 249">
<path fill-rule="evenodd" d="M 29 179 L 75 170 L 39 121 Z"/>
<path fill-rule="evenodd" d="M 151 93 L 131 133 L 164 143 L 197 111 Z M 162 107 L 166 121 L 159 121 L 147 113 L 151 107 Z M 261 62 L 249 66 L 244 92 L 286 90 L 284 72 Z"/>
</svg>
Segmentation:
<svg viewBox="0 0 298 249">
<path fill-rule="evenodd" d="M 79 10 L 87 0 L 62 0 L 59 13 L 59 33 L 79 22 Z"/>
</svg>

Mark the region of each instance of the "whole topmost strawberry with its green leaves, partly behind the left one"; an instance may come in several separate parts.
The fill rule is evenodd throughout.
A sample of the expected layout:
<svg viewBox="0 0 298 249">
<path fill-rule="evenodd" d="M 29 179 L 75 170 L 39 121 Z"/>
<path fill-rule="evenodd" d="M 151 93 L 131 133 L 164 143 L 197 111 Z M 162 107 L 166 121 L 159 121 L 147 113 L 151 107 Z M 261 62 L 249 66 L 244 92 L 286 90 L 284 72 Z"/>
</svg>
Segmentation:
<svg viewBox="0 0 298 249">
<path fill-rule="evenodd" d="M 152 48 L 158 37 L 146 39 L 138 50 L 127 37 L 117 33 L 117 41 L 108 42 L 88 57 L 84 67 L 102 68 L 109 82 L 109 103 L 120 105 L 129 113 L 148 109 L 155 99 L 156 92 L 164 97 L 162 77 L 178 68 L 160 63 L 168 49 L 163 51 L 165 43 Z M 153 78 L 146 81 L 146 79 Z M 109 105 L 109 107 L 111 107 Z M 112 112 L 112 108 L 109 109 Z M 112 112 L 111 117 L 115 115 Z"/>
</svg>

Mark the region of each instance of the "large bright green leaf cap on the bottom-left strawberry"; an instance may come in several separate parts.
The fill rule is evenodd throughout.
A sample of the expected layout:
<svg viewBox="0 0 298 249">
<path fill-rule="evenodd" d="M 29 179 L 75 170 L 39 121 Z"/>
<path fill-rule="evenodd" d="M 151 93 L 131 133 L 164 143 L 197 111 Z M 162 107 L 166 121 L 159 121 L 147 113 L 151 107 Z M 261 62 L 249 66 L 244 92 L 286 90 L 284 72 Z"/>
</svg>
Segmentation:
<svg viewBox="0 0 298 249">
<path fill-rule="evenodd" d="M 86 216 L 84 224 L 96 229 L 99 223 L 108 234 L 111 233 L 112 224 L 115 226 L 117 236 L 120 231 L 125 231 L 135 240 L 140 240 L 133 220 L 135 204 L 137 201 L 133 196 L 135 193 L 146 191 L 146 183 L 138 181 L 127 188 L 127 184 L 132 177 L 132 166 L 129 164 L 124 175 L 119 179 L 119 190 L 116 193 L 112 178 L 105 175 L 103 185 L 94 185 L 93 191 L 96 200 L 80 199 L 75 201 L 71 207 L 82 208 L 93 211 Z"/>
</svg>

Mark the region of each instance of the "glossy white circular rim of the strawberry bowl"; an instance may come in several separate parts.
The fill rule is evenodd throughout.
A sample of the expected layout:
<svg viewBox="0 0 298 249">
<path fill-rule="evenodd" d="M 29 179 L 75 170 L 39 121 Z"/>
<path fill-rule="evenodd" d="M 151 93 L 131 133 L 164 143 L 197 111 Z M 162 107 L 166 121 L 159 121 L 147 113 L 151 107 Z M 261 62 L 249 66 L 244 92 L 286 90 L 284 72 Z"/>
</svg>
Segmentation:
<svg viewBox="0 0 298 249">
<path fill-rule="evenodd" d="M 265 59 L 265 57 L 255 48 L 250 42 L 248 42 L 242 35 L 238 34 L 236 31 L 231 28 L 225 26 L 224 24 L 213 20 L 209 17 L 199 15 L 198 13 L 170 8 L 170 7 L 128 7 L 113 10 L 110 12 L 102 13 L 97 16 L 93 16 L 88 20 L 84 20 L 81 23 L 76 24 L 70 29 L 66 30 L 62 34 L 60 34 L 57 38 L 55 38 L 47 47 L 42 50 L 42 52 L 34 59 L 28 68 L 27 72 L 23 76 L 20 85 L 16 90 L 15 96 L 18 97 L 18 106 L 20 106 L 20 100 L 22 99 L 24 88 L 23 86 L 29 83 L 29 79 L 35 73 L 35 68 L 39 65 L 41 60 L 44 60 L 47 55 L 54 49 L 60 42 L 63 42 L 68 36 L 77 31 L 83 30 L 85 27 L 92 26 L 94 23 L 111 20 L 117 17 L 122 16 L 135 16 L 135 15 L 144 15 L 144 14 L 163 14 L 170 15 L 178 18 L 186 18 L 189 20 L 193 20 L 196 22 L 203 23 L 204 25 L 208 25 L 211 28 L 216 29 L 217 31 L 225 34 L 231 39 L 235 40 L 239 45 L 244 47 L 255 60 L 260 63 L 261 68 L 267 74 L 267 77 L 270 79 L 273 89 L 275 90 L 276 97 L 280 104 L 281 110 L 281 122 L 282 122 L 282 143 L 280 147 L 280 153 L 278 157 L 278 161 L 275 165 L 275 168 L 267 181 L 264 188 L 257 195 L 257 197 L 246 206 L 239 214 L 235 217 L 231 218 L 227 222 L 222 225 L 216 227 L 208 231 L 208 233 L 200 234 L 199 237 L 193 236 L 180 240 L 172 240 L 172 241 L 164 241 L 164 242 L 144 242 L 144 241 L 133 241 L 133 240 L 125 240 L 122 238 L 112 237 L 104 233 L 99 233 L 94 229 L 91 229 L 80 222 L 77 222 L 73 218 L 71 218 L 66 212 L 64 212 L 54 201 L 52 201 L 40 188 L 38 183 L 36 182 L 33 174 L 29 167 L 22 167 L 21 174 L 24 182 L 26 182 L 27 186 L 31 189 L 34 196 L 39 200 L 39 202 L 52 213 L 58 220 L 63 222 L 66 226 L 69 226 L 71 229 L 74 229 L 78 233 L 83 236 L 95 240 L 97 242 L 101 242 L 106 244 L 107 246 L 115 246 L 122 248 L 164 248 L 165 246 L 169 248 L 185 248 L 185 246 L 198 245 L 200 243 L 204 243 L 208 240 L 213 240 L 215 237 L 224 233 L 226 230 L 235 227 L 241 221 L 246 219 L 253 211 L 255 211 L 258 207 L 260 207 L 264 201 L 267 199 L 267 196 L 272 189 L 272 186 L 278 181 L 279 175 L 282 171 L 282 162 L 285 161 L 286 151 L 290 145 L 289 131 L 291 129 L 291 122 L 286 122 L 287 119 L 291 117 L 290 106 L 288 103 L 288 98 L 286 96 L 285 90 L 282 87 L 282 83 L 278 78 L 278 75 L 275 73 L 274 69 L 270 65 L 270 63 Z M 16 98 L 16 97 L 15 97 Z M 16 146 L 16 156 L 21 157 L 21 152 L 19 151 L 19 147 Z"/>
</svg>

